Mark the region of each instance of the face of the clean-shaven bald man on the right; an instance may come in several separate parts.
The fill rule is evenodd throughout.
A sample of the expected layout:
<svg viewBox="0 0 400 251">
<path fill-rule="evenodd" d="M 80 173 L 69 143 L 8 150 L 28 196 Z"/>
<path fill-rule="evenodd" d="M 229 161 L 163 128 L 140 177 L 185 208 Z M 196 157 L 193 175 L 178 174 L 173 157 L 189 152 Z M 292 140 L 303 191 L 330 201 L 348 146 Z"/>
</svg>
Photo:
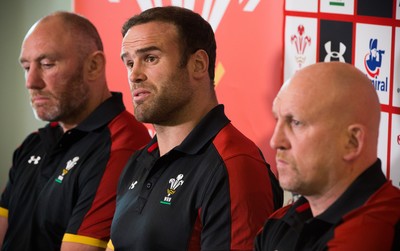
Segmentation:
<svg viewBox="0 0 400 251">
<path fill-rule="evenodd" d="M 293 79 L 274 100 L 277 123 L 270 144 L 277 150 L 282 188 L 302 195 L 318 195 L 335 180 L 334 168 L 341 158 L 343 136 L 336 126 L 339 116 L 335 109 L 330 109 L 331 98 L 321 92 L 323 88 L 304 84 L 309 80 Z"/>
</svg>

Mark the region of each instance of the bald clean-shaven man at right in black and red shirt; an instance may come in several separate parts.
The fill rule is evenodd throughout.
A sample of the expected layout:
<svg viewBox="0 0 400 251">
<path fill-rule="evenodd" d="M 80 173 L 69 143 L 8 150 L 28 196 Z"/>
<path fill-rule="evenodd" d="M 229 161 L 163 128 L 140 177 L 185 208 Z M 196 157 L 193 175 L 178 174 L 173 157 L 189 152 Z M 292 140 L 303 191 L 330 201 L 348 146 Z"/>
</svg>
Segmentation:
<svg viewBox="0 0 400 251">
<path fill-rule="evenodd" d="M 273 113 L 279 183 L 301 197 L 268 219 L 255 249 L 400 250 L 400 190 L 377 157 L 380 103 L 365 74 L 308 66 L 282 86 Z"/>
</svg>

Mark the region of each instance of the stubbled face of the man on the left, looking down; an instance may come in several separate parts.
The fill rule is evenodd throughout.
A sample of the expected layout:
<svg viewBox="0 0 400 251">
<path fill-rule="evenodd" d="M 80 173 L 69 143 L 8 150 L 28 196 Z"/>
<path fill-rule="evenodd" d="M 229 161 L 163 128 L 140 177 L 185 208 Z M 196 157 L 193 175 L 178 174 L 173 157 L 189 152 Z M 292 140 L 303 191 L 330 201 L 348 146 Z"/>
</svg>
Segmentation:
<svg viewBox="0 0 400 251">
<path fill-rule="evenodd" d="M 35 116 L 63 122 L 84 110 L 88 87 L 73 36 L 55 28 L 55 24 L 39 23 L 29 31 L 21 47 L 20 62 Z"/>
</svg>

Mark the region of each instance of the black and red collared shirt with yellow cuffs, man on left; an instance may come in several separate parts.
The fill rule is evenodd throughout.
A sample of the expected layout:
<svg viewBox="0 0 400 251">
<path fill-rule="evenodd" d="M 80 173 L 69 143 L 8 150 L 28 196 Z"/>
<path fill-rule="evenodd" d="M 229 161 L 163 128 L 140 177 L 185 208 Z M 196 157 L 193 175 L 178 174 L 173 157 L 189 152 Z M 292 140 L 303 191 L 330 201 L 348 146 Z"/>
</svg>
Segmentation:
<svg viewBox="0 0 400 251">
<path fill-rule="evenodd" d="M 60 250 L 63 239 L 104 247 L 119 174 L 149 140 L 120 93 L 65 133 L 49 123 L 30 134 L 14 152 L 1 196 L 3 250 Z"/>
</svg>

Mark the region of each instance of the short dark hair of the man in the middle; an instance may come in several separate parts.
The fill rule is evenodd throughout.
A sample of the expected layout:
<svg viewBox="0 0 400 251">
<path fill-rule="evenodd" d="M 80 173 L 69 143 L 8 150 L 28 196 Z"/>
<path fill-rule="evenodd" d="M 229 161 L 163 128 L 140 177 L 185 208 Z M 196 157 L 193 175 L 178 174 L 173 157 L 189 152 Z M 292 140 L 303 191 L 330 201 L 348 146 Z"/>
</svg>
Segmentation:
<svg viewBox="0 0 400 251">
<path fill-rule="evenodd" d="M 177 27 L 182 48 L 181 66 L 185 66 L 189 56 L 197 50 L 206 51 L 209 58 L 208 75 L 214 84 L 217 45 L 211 25 L 189 9 L 175 6 L 155 7 L 128 19 L 122 26 L 122 36 L 135 25 L 154 21 L 171 23 Z"/>
</svg>

